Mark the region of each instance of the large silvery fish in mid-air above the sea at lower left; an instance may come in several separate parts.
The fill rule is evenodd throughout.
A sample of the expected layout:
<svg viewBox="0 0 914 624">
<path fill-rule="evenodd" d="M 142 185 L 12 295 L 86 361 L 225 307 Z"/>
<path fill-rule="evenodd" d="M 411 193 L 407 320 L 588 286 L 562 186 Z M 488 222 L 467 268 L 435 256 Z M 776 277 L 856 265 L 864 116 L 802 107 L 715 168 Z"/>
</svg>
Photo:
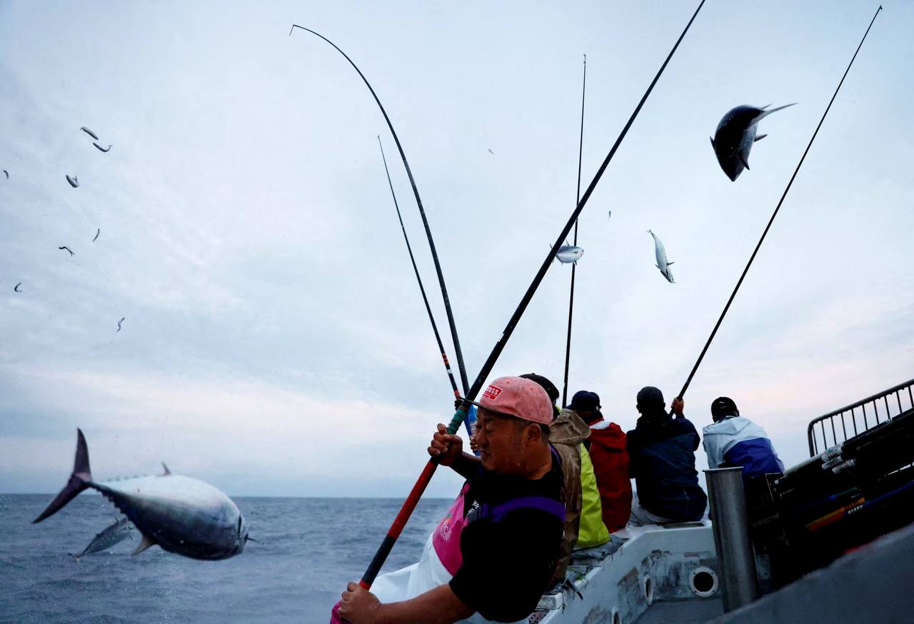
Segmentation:
<svg viewBox="0 0 914 624">
<path fill-rule="evenodd" d="M 95 481 L 86 439 L 80 429 L 76 432 L 76 459 L 69 481 L 33 524 L 58 513 L 77 494 L 92 488 L 114 503 L 143 535 L 133 555 L 156 544 L 176 555 L 210 561 L 228 559 L 244 550 L 248 525 L 224 493 L 203 481 L 172 474 L 165 464 L 165 474 Z"/>
</svg>

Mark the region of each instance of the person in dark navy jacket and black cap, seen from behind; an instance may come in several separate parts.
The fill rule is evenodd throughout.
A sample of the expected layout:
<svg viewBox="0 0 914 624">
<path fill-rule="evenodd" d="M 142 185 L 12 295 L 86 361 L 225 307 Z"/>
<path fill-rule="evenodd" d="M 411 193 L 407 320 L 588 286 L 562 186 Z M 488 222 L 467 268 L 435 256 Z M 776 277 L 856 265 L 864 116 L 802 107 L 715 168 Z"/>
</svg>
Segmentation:
<svg viewBox="0 0 914 624">
<path fill-rule="evenodd" d="M 638 392 L 641 418 L 626 434 L 629 476 L 634 479 L 629 524 L 665 524 L 699 520 L 707 495 L 698 485 L 695 451 L 698 432 L 683 416 L 683 400 L 673 399 L 676 418 L 666 413 L 664 394 L 653 386 Z"/>
</svg>

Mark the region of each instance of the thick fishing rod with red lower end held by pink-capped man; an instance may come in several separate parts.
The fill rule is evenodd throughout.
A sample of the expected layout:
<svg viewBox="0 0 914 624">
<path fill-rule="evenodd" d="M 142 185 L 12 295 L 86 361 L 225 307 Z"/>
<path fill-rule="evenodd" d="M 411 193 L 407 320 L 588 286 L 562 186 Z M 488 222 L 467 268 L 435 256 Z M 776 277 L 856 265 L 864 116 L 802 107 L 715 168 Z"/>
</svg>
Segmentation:
<svg viewBox="0 0 914 624">
<path fill-rule="evenodd" d="M 683 30 L 679 38 L 676 39 L 675 46 L 673 46 L 673 49 L 670 50 L 670 53 L 666 56 L 664 64 L 660 66 L 660 69 L 657 71 L 657 75 L 654 76 L 654 79 L 651 81 L 651 84 L 648 86 L 647 90 L 644 91 L 644 95 L 642 96 L 641 101 L 638 102 L 638 105 L 632 112 L 632 116 L 629 118 L 629 121 L 625 123 L 625 126 L 622 128 L 622 132 L 620 132 L 616 142 L 612 144 L 610 153 L 607 154 L 603 164 L 600 164 L 600 169 L 597 170 L 597 175 L 594 176 L 593 180 L 590 182 L 590 185 L 587 187 L 587 190 L 584 192 L 584 195 L 581 196 L 580 201 L 578 202 L 578 206 L 571 214 L 571 217 L 569 217 L 568 223 L 566 223 L 565 227 L 562 228 L 562 231 L 559 233 L 558 238 L 556 238 L 556 242 L 553 244 L 552 249 L 549 249 L 549 253 L 546 259 L 543 260 L 543 264 L 539 267 L 536 277 L 534 277 L 533 281 L 530 283 L 530 286 L 526 289 L 524 297 L 517 305 L 514 314 L 512 314 L 511 318 L 508 320 L 508 323 L 505 326 L 505 330 L 502 332 L 498 342 L 495 343 L 492 349 L 492 353 L 489 354 L 489 357 L 485 360 L 483 368 L 479 371 L 479 375 L 476 375 L 476 379 L 473 381 L 473 386 L 470 386 L 470 390 L 466 394 L 467 399 L 472 401 L 474 398 L 476 398 L 476 395 L 479 394 L 480 389 L 482 389 L 485 378 L 489 375 L 489 373 L 492 372 L 492 368 L 494 367 L 495 362 L 498 360 L 498 356 L 505 349 L 505 344 L 507 344 L 511 334 L 514 333 L 515 327 L 518 321 L 520 321 L 520 317 L 524 314 L 527 304 L 529 304 L 530 300 L 533 299 L 533 295 L 536 293 L 540 282 L 544 277 L 546 277 L 546 272 L 549 270 L 549 265 L 552 264 L 552 259 L 556 257 L 558 248 L 561 247 L 562 242 L 565 240 L 565 238 L 568 237 L 569 232 L 571 231 L 571 226 L 573 226 L 574 222 L 578 220 L 581 210 L 583 210 L 584 206 L 587 205 L 587 200 L 590 199 L 590 194 L 593 193 L 593 189 L 597 186 L 597 183 L 600 182 L 600 178 L 602 177 L 603 172 L 606 170 L 606 167 L 610 164 L 612 156 L 614 156 L 616 151 L 619 149 L 619 145 L 622 144 L 622 139 L 625 138 L 629 128 L 632 127 L 632 123 L 634 123 L 638 113 L 641 112 L 641 109 L 644 106 L 644 102 L 651 94 L 651 91 L 654 90 L 654 85 L 657 84 L 657 80 L 659 80 L 660 76 L 664 73 L 664 69 L 666 69 L 666 66 L 669 64 L 670 59 L 673 58 L 676 48 L 679 48 L 679 44 L 685 37 L 685 33 L 687 33 L 689 27 L 692 26 L 692 22 L 695 21 L 695 18 L 698 16 L 698 12 L 701 10 L 701 7 L 705 5 L 705 2 L 706 0 L 701 0 L 701 4 L 698 5 L 698 8 L 696 8 L 692 18 L 688 21 L 688 24 L 685 25 L 685 30 Z M 448 425 L 448 433 L 455 433 L 457 429 L 460 428 L 461 422 L 466 415 L 464 407 L 467 406 L 468 404 L 463 402 L 461 408 L 459 408 L 454 413 L 453 418 L 451 419 L 451 423 Z M 371 584 L 374 583 L 377 572 L 381 569 L 381 566 L 384 565 L 385 560 L 387 560 L 391 548 L 393 548 L 394 544 L 397 542 L 399 534 L 402 532 L 407 520 L 409 520 L 409 515 L 416 508 L 416 504 L 419 502 L 422 492 L 425 492 L 426 486 L 428 486 L 432 475 L 435 473 L 435 469 L 438 467 L 438 462 L 436 460 L 437 458 L 431 458 L 426 462 L 425 468 L 422 469 L 422 472 L 419 475 L 419 479 L 417 479 L 416 483 L 412 486 L 412 490 L 409 491 L 409 495 L 407 496 L 406 501 L 403 502 L 403 506 L 400 508 L 397 517 L 394 519 L 393 524 L 390 525 L 388 534 L 384 537 L 381 545 L 378 546 L 375 556 L 372 558 L 371 563 L 368 565 L 368 568 L 365 574 L 362 576 L 362 579 L 358 582 L 359 586 L 368 589 L 371 587 Z"/>
</svg>

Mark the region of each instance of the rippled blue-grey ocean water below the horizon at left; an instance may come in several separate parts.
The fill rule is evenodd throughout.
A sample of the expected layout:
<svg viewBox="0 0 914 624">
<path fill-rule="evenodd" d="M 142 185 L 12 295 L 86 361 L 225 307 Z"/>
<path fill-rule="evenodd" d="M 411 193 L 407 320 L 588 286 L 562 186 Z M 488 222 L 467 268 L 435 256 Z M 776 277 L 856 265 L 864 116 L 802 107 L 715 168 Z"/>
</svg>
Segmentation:
<svg viewBox="0 0 914 624">
<path fill-rule="evenodd" d="M 0 494 L 0 622 L 303 622 L 323 624 L 348 581 L 365 572 L 401 500 L 233 498 L 250 525 L 240 555 L 195 561 L 124 540 L 79 553 L 116 510 L 80 494 L 41 524 L 53 496 Z M 420 501 L 383 571 L 408 566 L 451 504 Z"/>
</svg>

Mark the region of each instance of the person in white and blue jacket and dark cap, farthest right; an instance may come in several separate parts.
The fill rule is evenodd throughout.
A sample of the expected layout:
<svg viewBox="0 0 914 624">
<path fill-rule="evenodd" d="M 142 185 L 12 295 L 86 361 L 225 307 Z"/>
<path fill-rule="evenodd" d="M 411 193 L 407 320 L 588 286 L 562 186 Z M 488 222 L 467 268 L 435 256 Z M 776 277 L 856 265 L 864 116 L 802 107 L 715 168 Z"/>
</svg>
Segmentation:
<svg viewBox="0 0 914 624">
<path fill-rule="evenodd" d="M 783 472 L 771 439 L 749 418 L 739 416 L 730 397 L 717 397 L 711 403 L 714 423 L 703 428 L 707 465 L 711 468 L 742 466 L 743 482 L 767 472 Z"/>
</svg>

